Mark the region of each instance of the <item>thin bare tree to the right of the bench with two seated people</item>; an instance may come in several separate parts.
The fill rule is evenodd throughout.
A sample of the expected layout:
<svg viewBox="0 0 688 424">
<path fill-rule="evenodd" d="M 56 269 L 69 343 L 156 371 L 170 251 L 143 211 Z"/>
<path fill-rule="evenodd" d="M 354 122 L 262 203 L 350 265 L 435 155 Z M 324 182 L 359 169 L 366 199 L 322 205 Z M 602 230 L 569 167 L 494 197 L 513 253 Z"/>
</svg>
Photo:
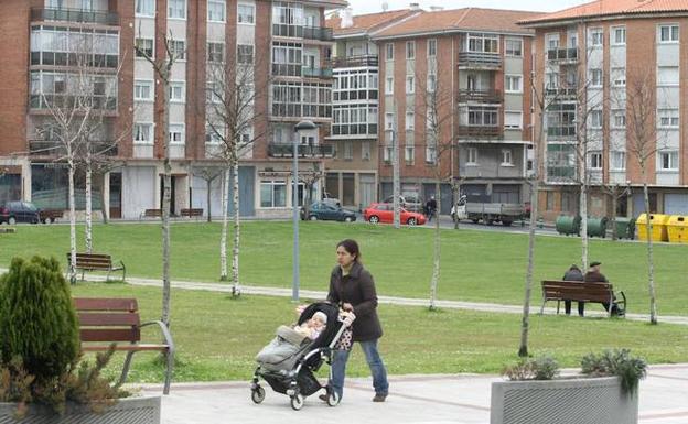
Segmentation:
<svg viewBox="0 0 688 424">
<path fill-rule="evenodd" d="M 656 86 L 654 69 L 637 65 L 628 73 L 626 87 L 627 150 L 639 167 L 643 182 L 643 204 L 647 217 L 647 287 L 649 291 L 649 322 L 657 324 L 657 300 L 655 293 L 655 264 L 649 209 L 648 167 L 655 154 L 666 144 L 666 132 L 657 130 Z"/>
</svg>

